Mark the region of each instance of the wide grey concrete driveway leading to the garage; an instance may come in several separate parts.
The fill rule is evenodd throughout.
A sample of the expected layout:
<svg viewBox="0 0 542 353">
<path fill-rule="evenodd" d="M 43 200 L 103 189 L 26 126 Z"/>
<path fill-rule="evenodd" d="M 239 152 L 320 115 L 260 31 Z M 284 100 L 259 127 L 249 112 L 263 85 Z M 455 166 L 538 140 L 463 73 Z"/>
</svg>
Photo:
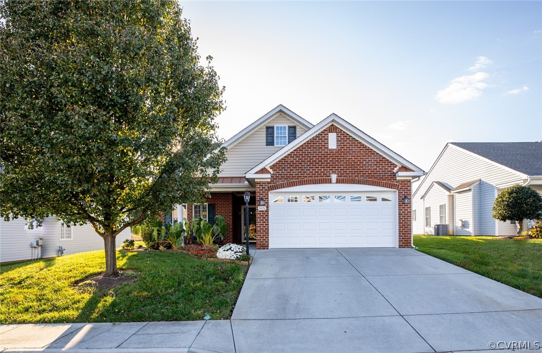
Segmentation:
<svg viewBox="0 0 542 353">
<path fill-rule="evenodd" d="M 541 327 L 542 299 L 411 249 L 257 251 L 231 318 L 238 352 L 535 348 Z"/>
</svg>

